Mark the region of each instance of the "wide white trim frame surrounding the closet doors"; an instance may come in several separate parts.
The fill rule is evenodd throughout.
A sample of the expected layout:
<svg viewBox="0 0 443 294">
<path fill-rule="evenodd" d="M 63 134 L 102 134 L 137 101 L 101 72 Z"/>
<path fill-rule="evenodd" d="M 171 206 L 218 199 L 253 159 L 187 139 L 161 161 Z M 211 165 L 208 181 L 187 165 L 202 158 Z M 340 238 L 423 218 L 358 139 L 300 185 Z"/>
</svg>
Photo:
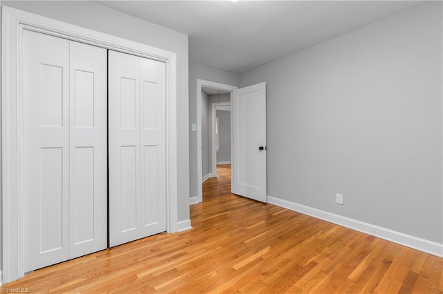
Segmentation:
<svg viewBox="0 0 443 294">
<path fill-rule="evenodd" d="M 101 48 L 165 62 L 167 232 L 178 231 L 177 215 L 177 55 L 102 32 L 2 7 L 1 39 L 1 181 L 3 213 L 3 284 L 24 276 L 22 228 L 23 115 L 21 44 L 23 30 L 80 41 Z"/>
</svg>

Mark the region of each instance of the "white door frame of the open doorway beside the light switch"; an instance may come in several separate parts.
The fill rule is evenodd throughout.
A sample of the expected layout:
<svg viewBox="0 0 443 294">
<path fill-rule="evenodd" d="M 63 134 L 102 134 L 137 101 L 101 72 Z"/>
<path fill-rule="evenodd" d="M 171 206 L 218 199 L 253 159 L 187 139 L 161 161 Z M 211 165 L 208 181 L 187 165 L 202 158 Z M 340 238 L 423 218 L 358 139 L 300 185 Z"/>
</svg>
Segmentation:
<svg viewBox="0 0 443 294">
<path fill-rule="evenodd" d="M 197 79 L 197 199 L 192 201 L 190 204 L 197 204 L 203 201 L 203 182 L 202 182 L 202 170 L 201 170 L 201 88 L 213 88 L 217 90 L 225 90 L 232 92 L 237 90 L 237 86 L 230 86 L 228 84 L 221 84 L 215 81 L 207 81 L 204 79 Z M 232 98 L 231 98 L 232 99 Z"/>
</svg>

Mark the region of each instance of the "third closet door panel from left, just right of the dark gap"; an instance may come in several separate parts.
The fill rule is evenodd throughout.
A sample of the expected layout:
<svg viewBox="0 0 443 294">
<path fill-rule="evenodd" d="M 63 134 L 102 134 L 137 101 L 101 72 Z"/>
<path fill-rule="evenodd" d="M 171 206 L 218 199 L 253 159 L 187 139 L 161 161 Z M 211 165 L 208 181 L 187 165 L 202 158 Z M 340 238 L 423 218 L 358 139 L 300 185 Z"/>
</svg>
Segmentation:
<svg viewBox="0 0 443 294">
<path fill-rule="evenodd" d="M 140 61 L 109 50 L 109 242 L 140 238 Z"/>
</svg>

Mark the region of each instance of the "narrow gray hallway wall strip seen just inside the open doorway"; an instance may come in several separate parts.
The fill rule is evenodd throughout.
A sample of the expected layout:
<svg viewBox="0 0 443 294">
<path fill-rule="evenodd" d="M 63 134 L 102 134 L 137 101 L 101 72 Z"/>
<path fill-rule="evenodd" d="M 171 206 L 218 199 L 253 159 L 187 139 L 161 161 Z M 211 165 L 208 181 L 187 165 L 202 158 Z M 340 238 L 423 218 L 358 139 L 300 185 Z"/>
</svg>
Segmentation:
<svg viewBox="0 0 443 294">
<path fill-rule="evenodd" d="M 211 173 L 209 148 L 211 144 L 208 116 L 210 115 L 210 104 L 208 94 L 201 90 L 201 176 L 205 177 Z"/>
</svg>

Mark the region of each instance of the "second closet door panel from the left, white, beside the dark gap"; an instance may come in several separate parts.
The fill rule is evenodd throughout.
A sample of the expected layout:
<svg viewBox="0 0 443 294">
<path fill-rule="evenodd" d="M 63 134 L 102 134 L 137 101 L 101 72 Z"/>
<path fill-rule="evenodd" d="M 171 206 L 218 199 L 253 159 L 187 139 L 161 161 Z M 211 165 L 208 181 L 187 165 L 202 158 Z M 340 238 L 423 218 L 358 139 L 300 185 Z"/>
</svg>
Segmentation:
<svg viewBox="0 0 443 294">
<path fill-rule="evenodd" d="M 70 42 L 70 248 L 107 247 L 107 50 Z"/>
</svg>

